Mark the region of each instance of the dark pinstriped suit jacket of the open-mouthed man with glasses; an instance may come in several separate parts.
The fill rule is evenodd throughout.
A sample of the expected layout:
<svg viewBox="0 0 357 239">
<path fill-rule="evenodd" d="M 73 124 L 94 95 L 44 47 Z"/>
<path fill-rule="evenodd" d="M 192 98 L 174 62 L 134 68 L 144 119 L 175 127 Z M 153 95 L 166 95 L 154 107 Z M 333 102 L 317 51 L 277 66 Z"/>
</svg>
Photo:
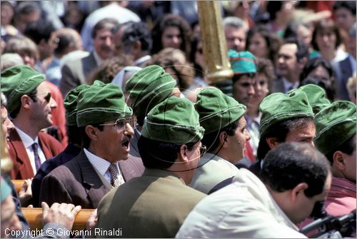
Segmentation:
<svg viewBox="0 0 357 239">
<path fill-rule="evenodd" d="M 141 158 L 129 156 L 119 161 L 124 180 L 141 176 L 144 166 Z M 111 190 L 104 185 L 84 151 L 62 166 L 55 168 L 41 183 L 39 203 L 72 203 L 82 208 L 96 208 L 99 201 Z"/>
</svg>

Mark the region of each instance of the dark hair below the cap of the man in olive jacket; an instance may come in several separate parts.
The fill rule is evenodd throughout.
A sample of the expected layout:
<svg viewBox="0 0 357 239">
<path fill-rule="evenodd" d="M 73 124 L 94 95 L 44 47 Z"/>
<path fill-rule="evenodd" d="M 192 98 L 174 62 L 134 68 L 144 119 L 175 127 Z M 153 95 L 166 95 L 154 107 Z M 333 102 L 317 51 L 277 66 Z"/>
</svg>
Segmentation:
<svg viewBox="0 0 357 239">
<path fill-rule="evenodd" d="M 195 143 L 185 143 L 188 150 L 193 149 Z M 140 136 L 138 148 L 145 168 L 170 168 L 177 158 L 177 153 L 183 144 L 154 141 Z"/>
</svg>

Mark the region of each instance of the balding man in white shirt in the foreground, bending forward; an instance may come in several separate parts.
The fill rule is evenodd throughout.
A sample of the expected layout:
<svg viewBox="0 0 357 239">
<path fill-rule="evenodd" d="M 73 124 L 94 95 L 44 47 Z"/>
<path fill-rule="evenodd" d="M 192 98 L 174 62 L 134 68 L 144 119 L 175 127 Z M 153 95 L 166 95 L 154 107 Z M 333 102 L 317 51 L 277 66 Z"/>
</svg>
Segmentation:
<svg viewBox="0 0 357 239">
<path fill-rule="evenodd" d="M 269 151 L 261 179 L 241 168 L 233 183 L 203 198 L 176 238 L 306 238 L 300 223 L 321 208 L 331 187 L 331 167 L 308 143 Z"/>
</svg>

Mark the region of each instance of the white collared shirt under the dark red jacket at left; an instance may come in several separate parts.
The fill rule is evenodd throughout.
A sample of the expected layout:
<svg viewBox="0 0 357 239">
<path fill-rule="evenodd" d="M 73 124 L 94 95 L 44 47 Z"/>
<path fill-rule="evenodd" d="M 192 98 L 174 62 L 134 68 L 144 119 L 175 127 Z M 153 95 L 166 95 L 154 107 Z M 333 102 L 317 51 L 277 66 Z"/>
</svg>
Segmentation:
<svg viewBox="0 0 357 239">
<path fill-rule="evenodd" d="M 37 148 L 37 152 L 39 153 L 41 164 L 44 163 L 44 161 L 46 161 L 46 156 L 44 156 L 44 152 L 42 151 L 41 145 L 39 143 L 39 136 L 36 136 L 35 140 L 33 140 L 28 134 L 26 134 L 24 131 L 21 131 L 21 129 L 17 128 L 16 126 L 15 129 L 17 133 L 19 133 L 22 143 L 24 143 L 27 156 L 29 156 L 29 160 L 31 163 L 31 168 L 34 171 L 34 175 L 36 175 L 37 171 L 36 171 L 36 164 L 35 164 L 35 156 L 34 156 L 34 150 L 32 149 L 32 145 L 34 143 L 37 143 L 39 146 Z"/>
</svg>

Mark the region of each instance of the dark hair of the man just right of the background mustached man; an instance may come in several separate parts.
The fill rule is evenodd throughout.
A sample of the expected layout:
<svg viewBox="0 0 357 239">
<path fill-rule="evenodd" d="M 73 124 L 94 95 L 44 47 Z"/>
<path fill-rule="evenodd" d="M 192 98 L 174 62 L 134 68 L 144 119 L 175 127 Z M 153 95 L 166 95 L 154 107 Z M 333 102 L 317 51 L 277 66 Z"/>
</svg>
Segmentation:
<svg viewBox="0 0 357 239">
<path fill-rule="evenodd" d="M 151 51 L 152 40 L 149 27 L 142 21 L 130 21 L 126 23 L 121 41 L 125 46 L 131 45 L 136 41 L 140 41 L 142 51 Z"/>
</svg>

